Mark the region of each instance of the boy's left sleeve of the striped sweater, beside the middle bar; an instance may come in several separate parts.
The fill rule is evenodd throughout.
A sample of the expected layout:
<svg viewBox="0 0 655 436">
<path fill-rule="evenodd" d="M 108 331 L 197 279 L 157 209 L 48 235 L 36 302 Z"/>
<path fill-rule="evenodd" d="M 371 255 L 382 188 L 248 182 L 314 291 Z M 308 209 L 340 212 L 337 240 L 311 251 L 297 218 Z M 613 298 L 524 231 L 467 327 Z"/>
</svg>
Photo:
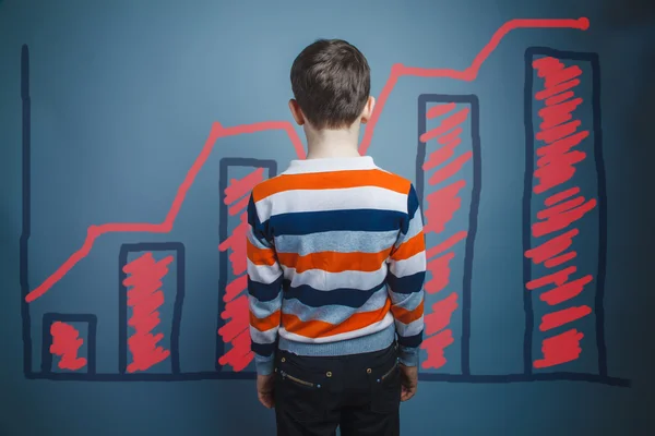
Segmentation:
<svg viewBox="0 0 655 436">
<path fill-rule="evenodd" d="M 257 373 L 273 373 L 277 330 L 282 318 L 283 272 L 269 231 L 259 219 L 253 196 L 248 203 L 248 301 L 250 339 Z"/>
</svg>

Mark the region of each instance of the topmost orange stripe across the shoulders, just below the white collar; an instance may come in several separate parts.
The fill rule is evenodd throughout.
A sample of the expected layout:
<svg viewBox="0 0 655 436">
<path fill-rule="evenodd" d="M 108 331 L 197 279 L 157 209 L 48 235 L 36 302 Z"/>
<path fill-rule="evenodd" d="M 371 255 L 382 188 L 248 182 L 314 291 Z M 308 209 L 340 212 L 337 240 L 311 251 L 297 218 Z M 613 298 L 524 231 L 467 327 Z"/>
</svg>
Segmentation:
<svg viewBox="0 0 655 436">
<path fill-rule="evenodd" d="M 257 203 L 283 191 L 331 190 L 359 186 L 385 187 L 401 194 L 409 192 L 409 181 L 396 174 L 373 169 L 282 174 L 254 186 L 252 197 Z"/>
</svg>

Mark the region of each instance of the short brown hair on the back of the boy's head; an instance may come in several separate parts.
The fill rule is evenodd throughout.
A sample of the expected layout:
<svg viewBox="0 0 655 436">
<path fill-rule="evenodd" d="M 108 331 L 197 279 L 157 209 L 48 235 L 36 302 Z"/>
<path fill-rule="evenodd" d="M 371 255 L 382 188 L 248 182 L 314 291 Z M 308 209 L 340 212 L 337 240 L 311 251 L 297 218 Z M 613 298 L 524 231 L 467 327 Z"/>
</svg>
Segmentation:
<svg viewBox="0 0 655 436">
<path fill-rule="evenodd" d="M 347 128 L 368 100 L 370 69 L 355 46 L 342 39 L 319 39 L 294 61 L 291 89 L 314 128 Z"/>
</svg>

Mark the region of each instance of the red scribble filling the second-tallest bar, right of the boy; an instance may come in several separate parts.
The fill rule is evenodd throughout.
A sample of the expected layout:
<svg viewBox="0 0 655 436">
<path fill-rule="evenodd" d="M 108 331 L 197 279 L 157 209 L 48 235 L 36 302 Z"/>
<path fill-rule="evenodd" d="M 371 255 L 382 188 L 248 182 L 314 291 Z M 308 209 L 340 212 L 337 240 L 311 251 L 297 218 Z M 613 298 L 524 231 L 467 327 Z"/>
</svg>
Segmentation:
<svg viewBox="0 0 655 436">
<path fill-rule="evenodd" d="M 424 231 L 428 243 L 427 250 L 428 277 L 425 290 L 428 295 L 439 295 L 431 312 L 426 313 L 426 339 L 421 348 L 427 352 L 427 359 L 421 366 L 425 370 L 439 370 L 446 362 L 445 349 L 454 343 L 451 318 L 458 307 L 461 289 L 450 288 L 451 263 L 463 263 L 464 256 L 453 250 L 466 240 L 467 230 L 458 228 L 453 219 L 462 209 L 462 193 L 466 189 L 464 165 L 469 162 L 473 153 L 461 149 L 463 124 L 468 121 L 471 109 L 456 102 L 439 102 L 426 111 L 427 119 L 434 119 L 439 124 L 420 134 L 420 142 L 426 143 L 426 159 L 422 164 L 422 177 L 427 181 L 425 187 L 437 186 L 434 191 L 425 194 L 422 202 L 425 214 Z M 429 144 L 428 144 L 429 143 Z M 433 237 L 431 237 L 433 235 Z M 436 238 L 434 238 L 436 237 Z M 431 241 L 439 241 L 430 243 Z M 443 295 L 441 292 L 449 290 Z M 432 300 L 432 298 L 430 298 Z M 427 305 L 426 305 L 427 307 Z M 458 320 L 457 320 L 458 322 Z"/>
</svg>

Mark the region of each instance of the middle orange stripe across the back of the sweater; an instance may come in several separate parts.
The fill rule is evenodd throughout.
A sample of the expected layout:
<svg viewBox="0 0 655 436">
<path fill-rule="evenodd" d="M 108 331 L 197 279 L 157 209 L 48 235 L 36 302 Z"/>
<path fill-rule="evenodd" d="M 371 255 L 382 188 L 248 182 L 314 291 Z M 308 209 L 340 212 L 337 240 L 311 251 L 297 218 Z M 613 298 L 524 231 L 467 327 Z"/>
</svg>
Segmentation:
<svg viewBox="0 0 655 436">
<path fill-rule="evenodd" d="M 296 272 L 308 269 L 322 269 L 327 272 L 377 271 L 389 257 L 391 249 L 378 253 L 338 253 L 319 252 L 300 256 L 297 253 L 277 253 L 277 259 L 287 268 L 296 268 Z"/>
</svg>

